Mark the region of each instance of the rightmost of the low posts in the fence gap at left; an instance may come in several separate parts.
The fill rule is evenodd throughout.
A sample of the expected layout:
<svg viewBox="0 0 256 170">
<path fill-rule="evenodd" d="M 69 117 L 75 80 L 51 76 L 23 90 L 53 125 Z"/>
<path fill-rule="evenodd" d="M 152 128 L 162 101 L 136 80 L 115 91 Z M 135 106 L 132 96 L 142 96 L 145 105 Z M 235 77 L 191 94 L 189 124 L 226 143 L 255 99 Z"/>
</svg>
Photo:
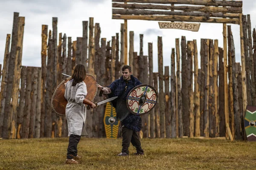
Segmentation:
<svg viewBox="0 0 256 170">
<path fill-rule="evenodd" d="M 37 86 L 37 98 L 36 98 L 36 112 L 35 112 L 35 138 L 40 138 L 40 123 L 41 123 L 41 85 L 42 85 L 42 71 L 38 68 L 38 86 Z M 64 117 L 64 116 L 63 116 Z"/>
</svg>

